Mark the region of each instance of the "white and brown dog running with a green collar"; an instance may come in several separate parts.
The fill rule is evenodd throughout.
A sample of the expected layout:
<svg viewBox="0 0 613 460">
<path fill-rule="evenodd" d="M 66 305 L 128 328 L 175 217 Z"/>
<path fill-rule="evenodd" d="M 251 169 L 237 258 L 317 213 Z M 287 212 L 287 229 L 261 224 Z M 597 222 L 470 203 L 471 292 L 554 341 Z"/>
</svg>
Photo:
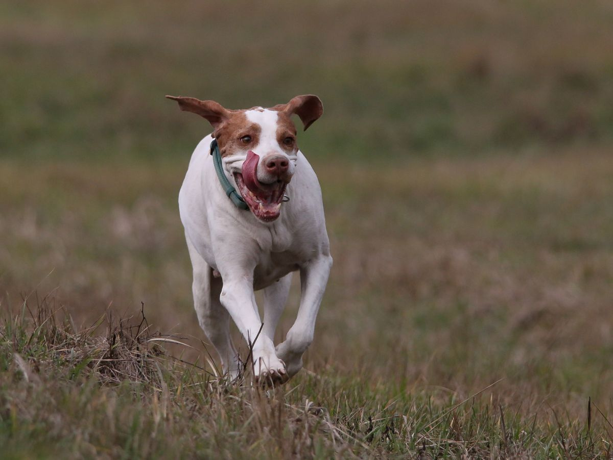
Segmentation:
<svg viewBox="0 0 613 460">
<path fill-rule="evenodd" d="M 167 97 L 213 127 L 194 150 L 179 193 L 200 327 L 229 379 L 242 373 L 231 317 L 251 349 L 256 382 L 283 384 L 302 368 L 332 267 L 321 187 L 291 120 L 297 115 L 307 130 L 323 113 L 321 100 L 300 95 L 271 108 L 232 110 L 211 100 Z M 275 347 L 296 270 L 300 308 Z M 263 322 L 254 295 L 260 289 Z"/>
</svg>

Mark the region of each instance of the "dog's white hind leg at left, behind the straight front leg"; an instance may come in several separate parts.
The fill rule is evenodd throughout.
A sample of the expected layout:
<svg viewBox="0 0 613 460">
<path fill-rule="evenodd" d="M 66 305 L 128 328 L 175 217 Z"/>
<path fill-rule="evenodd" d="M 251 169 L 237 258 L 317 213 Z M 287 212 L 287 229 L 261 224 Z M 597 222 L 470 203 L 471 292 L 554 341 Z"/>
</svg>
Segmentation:
<svg viewBox="0 0 613 460">
<path fill-rule="evenodd" d="M 230 380 L 234 380 L 239 373 L 240 360 L 230 338 L 230 315 L 219 302 L 221 278 L 213 276 L 211 267 L 196 251 L 189 237 L 186 239 L 194 271 L 192 292 L 198 322 L 218 352 L 224 373 L 228 374 Z"/>
</svg>

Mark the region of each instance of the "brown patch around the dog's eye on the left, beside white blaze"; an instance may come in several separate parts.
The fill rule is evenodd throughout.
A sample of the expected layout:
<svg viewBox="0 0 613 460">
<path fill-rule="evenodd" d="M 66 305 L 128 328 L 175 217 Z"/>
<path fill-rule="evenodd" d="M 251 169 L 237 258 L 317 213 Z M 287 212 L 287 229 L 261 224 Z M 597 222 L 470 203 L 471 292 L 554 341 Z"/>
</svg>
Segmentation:
<svg viewBox="0 0 613 460">
<path fill-rule="evenodd" d="M 262 128 L 260 125 L 248 121 L 245 110 L 233 110 L 230 115 L 213 132 L 217 139 L 219 153 L 222 157 L 229 157 L 242 150 L 249 150 L 259 142 Z M 251 139 L 246 141 L 245 136 Z"/>
</svg>

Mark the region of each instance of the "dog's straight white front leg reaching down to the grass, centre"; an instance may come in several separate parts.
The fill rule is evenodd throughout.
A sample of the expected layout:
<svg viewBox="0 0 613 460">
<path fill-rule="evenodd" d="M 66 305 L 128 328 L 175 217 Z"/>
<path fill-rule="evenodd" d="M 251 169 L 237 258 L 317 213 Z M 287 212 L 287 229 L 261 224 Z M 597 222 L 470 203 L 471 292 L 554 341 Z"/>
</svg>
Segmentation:
<svg viewBox="0 0 613 460">
<path fill-rule="evenodd" d="M 281 384 L 289 379 L 283 362 L 276 357 L 275 345 L 262 328 L 253 293 L 253 280 L 222 273 L 219 300 L 236 323 L 247 343 L 253 346 L 254 377 L 264 384 Z M 259 333 L 259 335 L 258 335 Z"/>
</svg>

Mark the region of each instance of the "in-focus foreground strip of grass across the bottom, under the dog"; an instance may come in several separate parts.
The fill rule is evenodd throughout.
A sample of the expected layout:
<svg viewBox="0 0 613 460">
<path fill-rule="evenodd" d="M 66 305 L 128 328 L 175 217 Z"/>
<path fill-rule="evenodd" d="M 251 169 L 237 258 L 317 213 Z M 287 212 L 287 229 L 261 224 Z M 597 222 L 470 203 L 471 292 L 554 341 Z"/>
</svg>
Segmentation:
<svg viewBox="0 0 613 460">
<path fill-rule="evenodd" d="M 264 391 L 248 377 L 228 385 L 173 360 L 142 321 L 108 324 L 98 338 L 95 326 L 75 331 L 59 316 L 43 302 L 0 328 L 3 458 L 587 458 L 610 450 L 592 404 L 589 421 L 587 411 L 574 420 L 527 398 L 535 410 L 527 417 L 494 396 L 499 382 L 465 397 L 330 372 Z"/>
</svg>

